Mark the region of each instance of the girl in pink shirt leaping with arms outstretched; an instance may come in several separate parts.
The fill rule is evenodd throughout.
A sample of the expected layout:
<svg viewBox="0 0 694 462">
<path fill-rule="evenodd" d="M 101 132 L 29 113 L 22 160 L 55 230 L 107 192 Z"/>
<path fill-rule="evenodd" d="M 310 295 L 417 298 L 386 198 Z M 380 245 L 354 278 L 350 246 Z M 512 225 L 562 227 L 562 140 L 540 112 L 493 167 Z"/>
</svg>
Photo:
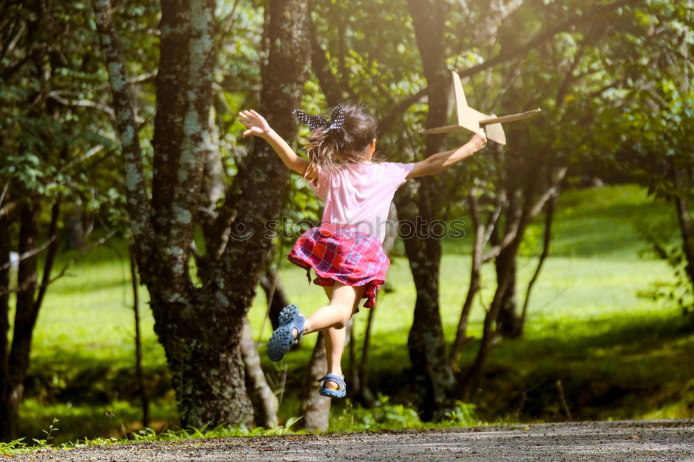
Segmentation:
<svg viewBox="0 0 694 462">
<path fill-rule="evenodd" d="M 267 345 L 272 361 L 306 334 L 325 332 L 328 371 L 319 393 L 344 397 L 347 392 L 340 367 L 348 320 L 364 307 L 375 306 L 376 291 L 385 282 L 390 260 L 381 248 L 387 232 L 387 216 L 396 189 L 409 178 L 433 175 L 464 160 L 486 145 L 484 130 L 469 142 L 421 162 L 375 162 L 376 121 L 361 105 L 337 105 L 330 120 L 295 110 L 300 121 L 311 128 L 306 151 L 310 160 L 299 157 L 254 110 L 239 112 L 248 128 L 244 137 L 255 135 L 272 146 L 282 162 L 309 181 L 325 201 L 321 225 L 298 238 L 287 258 L 323 286 L 328 305 L 306 318 L 289 305 L 280 313 L 280 326 Z"/>
</svg>

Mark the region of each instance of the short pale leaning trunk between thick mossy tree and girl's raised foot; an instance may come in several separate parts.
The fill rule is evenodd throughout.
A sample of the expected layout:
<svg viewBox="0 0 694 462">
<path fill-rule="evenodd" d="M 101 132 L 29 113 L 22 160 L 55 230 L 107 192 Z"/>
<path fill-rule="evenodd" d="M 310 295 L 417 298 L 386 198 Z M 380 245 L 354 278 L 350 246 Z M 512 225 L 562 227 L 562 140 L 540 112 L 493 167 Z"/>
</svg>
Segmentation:
<svg viewBox="0 0 694 462">
<path fill-rule="evenodd" d="M 275 393 L 268 386 L 265 374 L 260 366 L 257 345 L 253 340 L 253 331 L 248 318 L 244 319 L 244 332 L 241 339 L 241 350 L 246 364 L 246 389 L 253 403 L 255 425 L 264 428 L 277 426 L 277 409 L 279 403 Z"/>
</svg>

